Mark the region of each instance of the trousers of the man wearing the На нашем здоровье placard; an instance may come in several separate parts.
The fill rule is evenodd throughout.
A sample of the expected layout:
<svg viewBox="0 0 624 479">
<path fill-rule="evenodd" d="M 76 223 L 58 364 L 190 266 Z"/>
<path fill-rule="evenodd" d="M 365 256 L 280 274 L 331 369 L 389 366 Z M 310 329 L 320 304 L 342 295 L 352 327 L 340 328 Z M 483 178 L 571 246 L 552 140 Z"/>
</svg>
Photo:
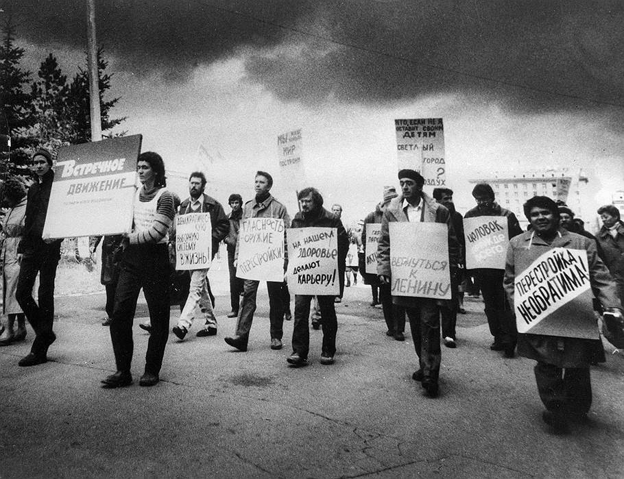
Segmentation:
<svg viewBox="0 0 624 479">
<path fill-rule="evenodd" d="M 316 296 L 321 310 L 321 324 L 323 327 L 322 355 L 336 354 L 336 333 L 338 321 L 334 308 L 335 296 Z M 308 357 L 310 350 L 310 302 L 313 296 L 295 295 L 295 321 L 293 326 L 293 352 L 299 353 L 302 358 Z"/>
</svg>

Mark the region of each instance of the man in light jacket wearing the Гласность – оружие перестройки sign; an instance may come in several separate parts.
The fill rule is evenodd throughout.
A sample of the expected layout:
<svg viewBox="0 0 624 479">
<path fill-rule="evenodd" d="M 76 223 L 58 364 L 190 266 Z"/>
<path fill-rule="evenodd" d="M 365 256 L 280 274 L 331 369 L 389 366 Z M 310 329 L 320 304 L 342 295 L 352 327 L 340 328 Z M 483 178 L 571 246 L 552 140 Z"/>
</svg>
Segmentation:
<svg viewBox="0 0 624 479">
<path fill-rule="evenodd" d="M 249 218 L 275 218 L 283 222 L 283 227 L 287 228 L 290 225 L 290 218 L 286 207 L 269 193 L 272 186 L 273 177 L 269 175 L 269 173 L 266 171 L 258 171 L 256 173 L 256 178 L 254 180 L 256 197 L 245 203 L 241 221 Z M 241 238 L 239 236 L 235 251 L 236 262 L 238 262 L 239 259 L 240 244 Z M 247 351 L 249 332 L 252 327 L 252 321 L 254 320 L 254 312 L 256 311 L 256 293 L 258 292 L 258 285 L 259 280 L 245 280 L 241 310 L 236 324 L 235 335 L 224 338 L 228 345 L 240 351 Z M 285 310 L 282 288 L 283 280 L 267 281 L 267 291 L 269 293 L 269 321 L 271 323 L 271 349 L 282 348 Z"/>
</svg>

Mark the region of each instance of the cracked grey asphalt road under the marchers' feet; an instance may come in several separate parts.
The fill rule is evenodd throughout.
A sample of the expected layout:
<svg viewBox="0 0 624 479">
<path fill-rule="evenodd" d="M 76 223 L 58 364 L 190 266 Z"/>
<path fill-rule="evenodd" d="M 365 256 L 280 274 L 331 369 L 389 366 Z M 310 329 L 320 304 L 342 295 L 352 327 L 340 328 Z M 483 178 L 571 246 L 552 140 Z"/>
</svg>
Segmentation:
<svg viewBox="0 0 624 479">
<path fill-rule="evenodd" d="M 235 320 L 226 282 L 217 293 L 217 336 L 171 334 L 161 381 L 140 387 L 147 316 L 134 328 L 135 382 L 101 389 L 115 370 L 104 295 L 59 297 L 58 339 L 49 362 L 21 368 L 24 343 L 0 348 L 0 477 L 466 477 L 624 476 L 624 358 L 592 368 L 586 423 L 553 434 L 542 423 L 533 362 L 505 359 L 491 341 L 483 304 L 460 315 L 457 349 L 442 347 L 440 397 L 411 380 L 417 360 L 408 331 L 385 335 L 370 289 L 337 305 L 336 362 L 320 365 L 322 333 L 311 330 L 310 365 L 293 368 L 269 349 L 266 293 L 248 352 L 223 341 Z M 262 291 L 262 288 L 261 288 Z M 171 326 L 176 309 L 171 310 Z M 608 351 L 610 353 L 612 349 Z"/>
</svg>

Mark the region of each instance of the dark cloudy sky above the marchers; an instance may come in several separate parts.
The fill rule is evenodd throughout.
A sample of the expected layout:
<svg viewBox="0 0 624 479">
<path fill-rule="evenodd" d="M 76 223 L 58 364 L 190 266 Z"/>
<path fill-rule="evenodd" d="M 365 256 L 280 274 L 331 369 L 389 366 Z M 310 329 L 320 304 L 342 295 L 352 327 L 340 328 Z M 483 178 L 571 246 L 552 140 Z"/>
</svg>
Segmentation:
<svg viewBox="0 0 624 479">
<path fill-rule="evenodd" d="M 85 4 L 2 8 L 30 60 L 53 51 L 79 62 Z M 201 143 L 228 161 L 272 162 L 274 136 L 302 127 L 311 179 L 317 169 L 335 177 L 336 161 L 357 175 L 364 161 L 381 184 L 394 168 L 376 163 L 395 159 L 392 127 L 380 122 L 444 116 L 455 183 L 466 180 L 460 165 L 500 169 L 505 158 L 520 169 L 572 158 L 623 175 L 621 1 L 96 4 L 119 114 L 144 145 L 180 161 Z M 595 185 L 598 195 L 605 182 Z M 340 197 L 339 183 L 331 188 Z"/>
</svg>

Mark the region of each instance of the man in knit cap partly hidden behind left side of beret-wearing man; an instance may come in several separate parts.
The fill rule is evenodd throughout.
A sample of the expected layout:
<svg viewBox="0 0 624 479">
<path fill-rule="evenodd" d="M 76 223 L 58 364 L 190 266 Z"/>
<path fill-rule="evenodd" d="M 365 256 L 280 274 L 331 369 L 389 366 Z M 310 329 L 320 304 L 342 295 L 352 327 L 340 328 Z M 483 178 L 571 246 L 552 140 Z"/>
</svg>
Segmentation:
<svg viewBox="0 0 624 479">
<path fill-rule="evenodd" d="M 379 244 L 379 236 L 372 237 L 373 232 L 379 231 L 381 234 L 381 220 L 383 213 L 390 204 L 390 200 L 396 198 L 396 189 L 394 186 L 389 186 L 383 191 L 383 200 L 375 207 L 375 210 L 370 212 L 364 219 L 364 228 L 362 229 L 362 245 L 364 246 L 364 264 L 360 269 L 364 278 L 365 284 L 370 284 L 371 287 L 379 288 L 379 299 L 381 301 L 381 307 L 383 309 L 383 319 L 387 330 L 386 336 L 391 336 L 396 341 L 405 341 L 405 308 L 398 306 L 398 304 L 392 304 L 392 295 L 390 293 L 390 285 L 381 283 L 376 275 L 377 270 L 377 245 Z M 369 241 L 374 239 L 373 241 Z M 371 251 L 371 247 L 374 245 L 374 249 Z M 366 270 L 369 264 L 374 264 L 375 273 L 368 273 Z"/>
</svg>

